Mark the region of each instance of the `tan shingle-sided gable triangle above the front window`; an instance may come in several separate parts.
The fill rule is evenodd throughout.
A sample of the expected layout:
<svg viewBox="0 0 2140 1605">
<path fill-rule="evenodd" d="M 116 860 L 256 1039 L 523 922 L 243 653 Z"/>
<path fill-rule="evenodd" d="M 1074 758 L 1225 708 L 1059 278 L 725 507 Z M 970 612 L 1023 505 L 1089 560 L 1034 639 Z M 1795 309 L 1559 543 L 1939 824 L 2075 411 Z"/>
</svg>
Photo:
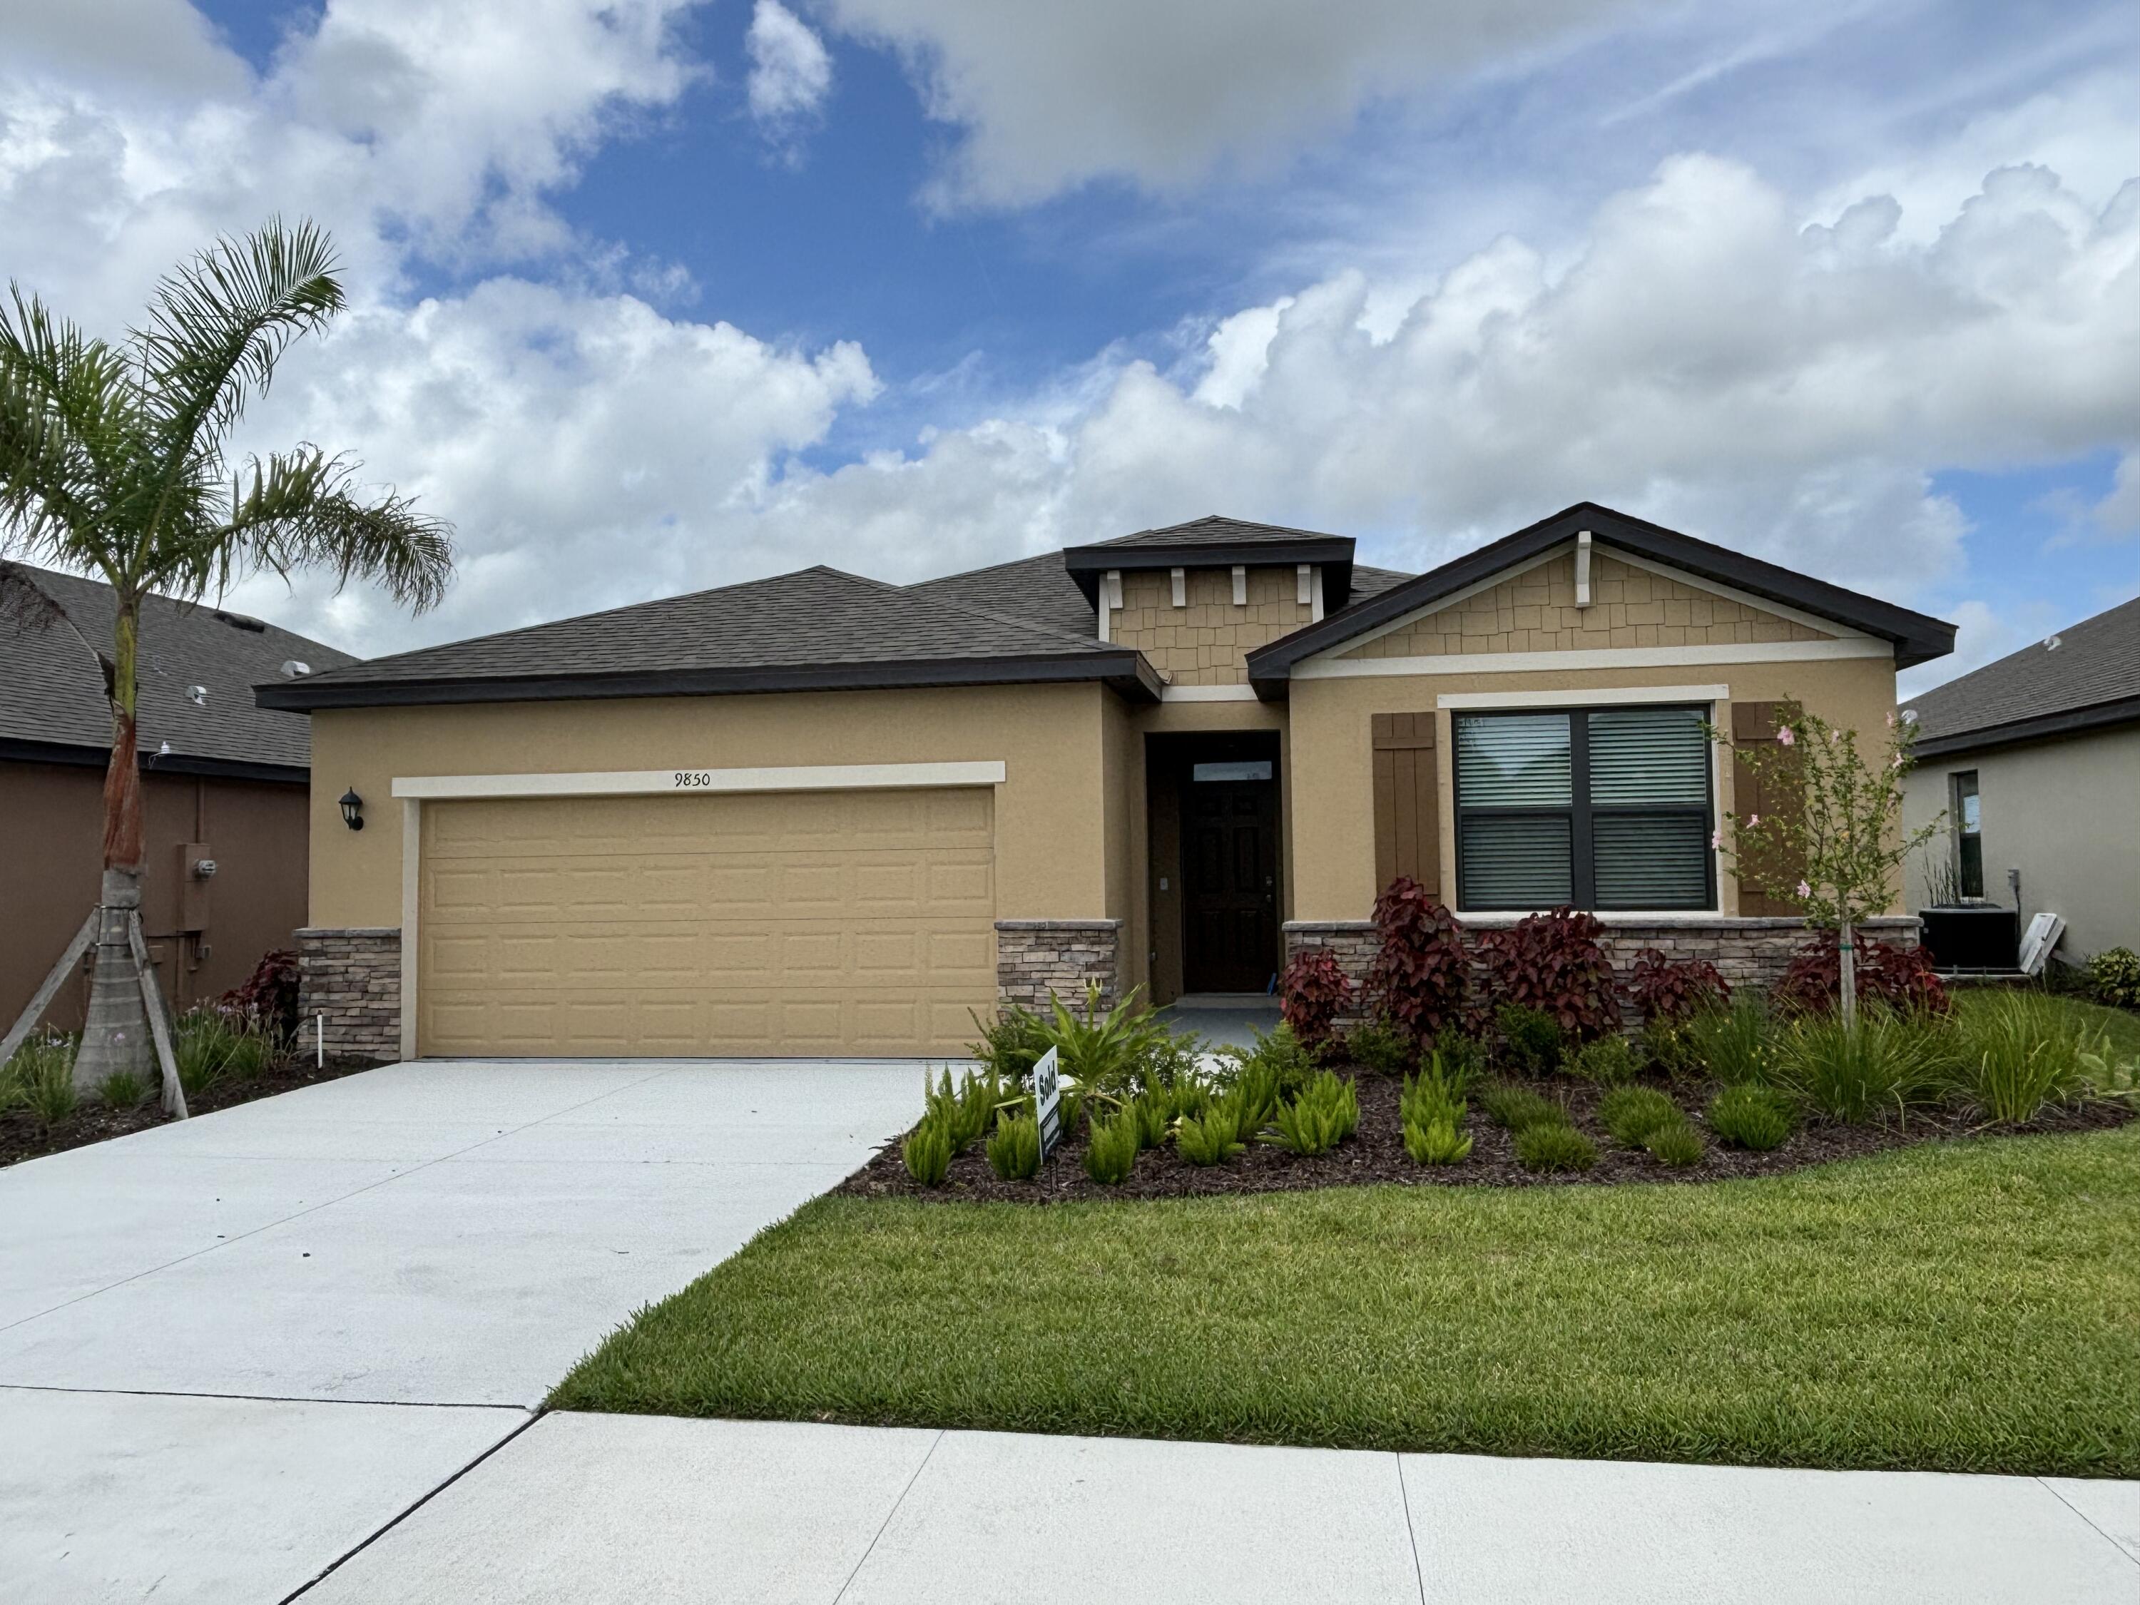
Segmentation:
<svg viewBox="0 0 2140 1605">
<path fill-rule="evenodd" d="M 1575 606 L 1575 556 L 1556 556 L 1464 601 L 1338 657 L 1442 657 L 1451 653 L 1560 653 L 1599 646 L 1733 646 L 1828 640 L 1791 618 L 1605 552 L 1590 556 L 1590 606 Z"/>
</svg>

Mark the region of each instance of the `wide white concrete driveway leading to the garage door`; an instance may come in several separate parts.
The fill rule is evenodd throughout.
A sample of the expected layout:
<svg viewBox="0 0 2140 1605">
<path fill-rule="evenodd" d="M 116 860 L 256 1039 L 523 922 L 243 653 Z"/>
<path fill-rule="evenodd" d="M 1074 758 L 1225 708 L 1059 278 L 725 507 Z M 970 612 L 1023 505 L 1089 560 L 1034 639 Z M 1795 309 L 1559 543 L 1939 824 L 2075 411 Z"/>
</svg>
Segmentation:
<svg viewBox="0 0 2140 1605">
<path fill-rule="evenodd" d="M 912 1061 L 407 1064 L 0 1171 L 0 1596 L 285 1599 L 918 1109 Z"/>
</svg>

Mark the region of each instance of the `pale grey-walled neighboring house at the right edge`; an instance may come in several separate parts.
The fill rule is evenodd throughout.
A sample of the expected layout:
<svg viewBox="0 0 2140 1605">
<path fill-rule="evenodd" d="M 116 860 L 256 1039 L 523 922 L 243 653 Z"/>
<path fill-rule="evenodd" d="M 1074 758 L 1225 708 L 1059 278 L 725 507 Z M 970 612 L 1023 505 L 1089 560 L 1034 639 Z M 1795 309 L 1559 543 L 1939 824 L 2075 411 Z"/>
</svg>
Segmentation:
<svg viewBox="0 0 2140 1605">
<path fill-rule="evenodd" d="M 2140 948 L 2140 599 L 1909 702 L 1905 822 L 1962 897 L 2065 918 L 2061 957 Z M 2018 875 L 2018 899 L 2016 877 Z M 1909 888 L 1922 905 L 1928 886 Z"/>
</svg>

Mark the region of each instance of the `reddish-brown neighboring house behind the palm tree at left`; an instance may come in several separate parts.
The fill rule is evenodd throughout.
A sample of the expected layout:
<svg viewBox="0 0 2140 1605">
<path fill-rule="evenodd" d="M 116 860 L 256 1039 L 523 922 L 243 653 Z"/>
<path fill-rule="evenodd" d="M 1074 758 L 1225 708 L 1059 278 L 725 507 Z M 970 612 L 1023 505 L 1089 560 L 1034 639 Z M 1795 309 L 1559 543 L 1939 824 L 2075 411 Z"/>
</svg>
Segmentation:
<svg viewBox="0 0 2140 1605">
<path fill-rule="evenodd" d="M 0 612 L 0 1029 L 36 993 L 103 875 L 103 788 L 111 704 L 98 653 L 111 651 L 111 588 L 11 565 L 51 603 Z M 141 920 L 165 997 L 188 1008 L 242 982 L 304 922 L 304 717 L 255 704 L 253 685 L 351 663 L 347 653 L 208 603 L 150 597 L 141 608 L 141 792 L 148 873 Z M 214 873 L 197 871 L 214 860 Z M 47 1010 L 77 1027 L 88 969 Z"/>
</svg>

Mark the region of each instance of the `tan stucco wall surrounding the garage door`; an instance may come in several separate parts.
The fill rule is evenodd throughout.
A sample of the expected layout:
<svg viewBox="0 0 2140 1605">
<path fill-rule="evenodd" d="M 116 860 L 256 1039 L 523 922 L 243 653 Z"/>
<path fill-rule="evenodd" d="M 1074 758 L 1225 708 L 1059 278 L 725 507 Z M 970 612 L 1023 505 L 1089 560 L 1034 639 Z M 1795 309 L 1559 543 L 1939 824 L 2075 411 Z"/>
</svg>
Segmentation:
<svg viewBox="0 0 2140 1605">
<path fill-rule="evenodd" d="M 1098 685 L 618 698 L 312 715 L 315 927 L 398 927 L 396 775 L 1004 760 L 997 918 L 1106 918 L 1109 758 Z M 336 798 L 364 798 L 364 830 Z"/>
</svg>

